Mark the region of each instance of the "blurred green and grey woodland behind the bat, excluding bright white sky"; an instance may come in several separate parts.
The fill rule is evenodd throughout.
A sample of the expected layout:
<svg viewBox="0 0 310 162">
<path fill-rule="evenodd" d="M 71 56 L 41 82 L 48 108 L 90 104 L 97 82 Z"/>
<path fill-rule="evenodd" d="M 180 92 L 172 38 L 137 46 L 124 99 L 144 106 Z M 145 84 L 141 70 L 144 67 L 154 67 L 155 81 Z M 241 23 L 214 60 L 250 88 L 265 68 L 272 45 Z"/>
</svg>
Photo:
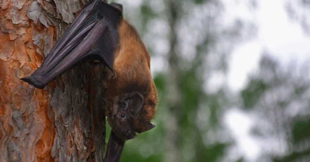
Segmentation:
<svg viewBox="0 0 310 162">
<path fill-rule="evenodd" d="M 253 128 L 255 131 L 252 131 L 253 137 L 259 142 L 274 137 L 282 141 L 281 145 L 286 148 L 277 154 L 272 149 L 263 149 L 255 161 L 310 161 L 307 156 L 310 153 L 309 79 L 297 76 L 293 68 L 285 69 L 276 60 L 264 56 L 259 70 L 249 77 L 249 82 L 240 92 L 232 93 L 225 85 L 215 92 L 208 92 L 205 88 L 208 74 L 214 71 L 226 73 L 229 60 L 226 53 L 229 53 L 236 40 L 242 38 L 238 34 L 246 26 L 245 22 L 237 20 L 234 23 L 237 26 L 219 30 L 216 22 L 220 21 L 218 19 L 223 8 L 219 1 L 145 0 L 136 1 L 140 2 L 136 6 L 129 5 L 131 1 L 115 2 L 124 5 L 125 18 L 135 25 L 151 56 L 160 56 L 166 61 L 160 64 L 164 68 L 153 74 L 159 100 L 153 119 L 157 126 L 126 141 L 122 162 L 248 161 L 238 150 L 231 130 L 224 124 L 224 115 L 232 107 L 255 114 L 259 119 Z M 206 13 L 211 16 L 189 16 L 199 6 L 205 6 L 208 10 Z M 156 26 L 154 22 L 161 24 Z M 190 28 L 193 23 L 197 23 L 197 29 Z M 202 26 L 201 29 L 198 26 Z M 196 30 L 201 30 L 198 36 L 194 35 Z M 223 38 L 224 42 L 221 43 Z M 164 41 L 169 50 L 156 53 L 157 39 Z M 182 43 L 186 40 L 191 41 L 185 43 L 192 43 L 195 39 L 200 41 L 189 45 L 194 46 L 194 54 L 180 54 L 184 46 Z M 227 45 L 227 42 L 230 44 Z M 160 47 L 166 47 L 164 45 Z M 218 53 L 212 55 L 214 52 Z M 306 108 L 297 110 L 294 104 L 301 102 L 301 98 L 308 100 L 308 104 L 304 104 Z M 296 112 L 290 113 L 293 110 Z M 269 125 L 266 126 L 264 122 Z M 111 128 L 107 126 L 107 135 L 110 131 Z M 234 153 L 231 153 L 233 148 Z"/>
</svg>

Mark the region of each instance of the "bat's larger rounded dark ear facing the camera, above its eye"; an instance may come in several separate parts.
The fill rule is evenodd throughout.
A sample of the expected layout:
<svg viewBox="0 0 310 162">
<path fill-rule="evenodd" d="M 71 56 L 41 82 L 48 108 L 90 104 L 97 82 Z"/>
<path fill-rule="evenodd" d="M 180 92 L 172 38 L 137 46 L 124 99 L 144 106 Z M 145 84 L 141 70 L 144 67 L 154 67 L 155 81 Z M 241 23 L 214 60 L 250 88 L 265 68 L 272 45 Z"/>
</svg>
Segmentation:
<svg viewBox="0 0 310 162">
<path fill-rule="evenodd" d="M 139 92 L 132 92 L 130 96 L 132 97 L 127 100 L 128 107 L 132 114 L 131 117 L 135 118 L 143 106 L 143 96 Z"/>
</svg>

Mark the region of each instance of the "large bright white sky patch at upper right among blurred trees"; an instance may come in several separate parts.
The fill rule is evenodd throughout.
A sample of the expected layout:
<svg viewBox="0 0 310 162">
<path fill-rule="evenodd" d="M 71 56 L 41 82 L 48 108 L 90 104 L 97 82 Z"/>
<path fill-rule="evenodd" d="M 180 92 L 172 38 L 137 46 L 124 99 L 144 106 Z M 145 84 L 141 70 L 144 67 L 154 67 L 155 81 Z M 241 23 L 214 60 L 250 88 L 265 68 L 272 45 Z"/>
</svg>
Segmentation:
<svg viewBox="0 0 310 162">
<path fill-rule="evenodd" d="M 239 44 L 231 54 L 228 85 L 233 91 L 237 92 L 246 85 L 247 75 L 257 70 L 263 51 L 277 58 L 282 65 L 292 60 L 302 63 L 309 58 L 310 37 L 303 32 L 299 22 L 289 19 L 285 1 L 259 0 L 256 10 L 249 10 L 248 1 L 225 1 L 227 0 L 224 0 L 225 6 L 228 7 L 227 11 L 232 12 L 227 15 L 236 15 L 234 12 L 237 12 L 237 16 L 241 19 L 252 18 L 258 27 L 257 36 Z M 237 11 L 233 9 L 234 5 L 239 6 Z"/>
</svg>

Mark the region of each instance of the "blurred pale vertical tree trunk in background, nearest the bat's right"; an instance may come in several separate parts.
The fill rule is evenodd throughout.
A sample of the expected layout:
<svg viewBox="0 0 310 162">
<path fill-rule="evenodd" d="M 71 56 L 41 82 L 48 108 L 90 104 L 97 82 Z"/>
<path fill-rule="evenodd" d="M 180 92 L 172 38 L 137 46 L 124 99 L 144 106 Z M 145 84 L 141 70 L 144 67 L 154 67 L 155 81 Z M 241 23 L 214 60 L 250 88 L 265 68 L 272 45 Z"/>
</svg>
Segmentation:
<svg viewBox="0 0 310 162">
<path fill-rule="evenodd" d="M 168 53 L 168 73 L 166 73 L 166 87 L 168 88 L 167 92 L 170 94 L 167 96 L 167 105 L 169 110 L 169 118 L 167 118 L 167 125 L 165 125 L 165 144 L 168 152 L 164 156 L 164 161 L 180 161 L 178 155 L 178 144 L 179 141 L 179 122 L 178 122 L 178 110 L 180 110 L 180 91 L 179 91 L 179 73 L 180 68 L 178 67 L 179 58 L 175 53 L 175 47 L 177 44 L 177 34 L 175 30 L 175 25 L 177 21 L 177 7 L 179 2 L 175 0 L 169 0 L 167 5 L 167 12 L 169 16 L 169 27 L 170 27 L 170 51 Z M 180 8 L 179 8 L 180 9 Z"/>
</svg>

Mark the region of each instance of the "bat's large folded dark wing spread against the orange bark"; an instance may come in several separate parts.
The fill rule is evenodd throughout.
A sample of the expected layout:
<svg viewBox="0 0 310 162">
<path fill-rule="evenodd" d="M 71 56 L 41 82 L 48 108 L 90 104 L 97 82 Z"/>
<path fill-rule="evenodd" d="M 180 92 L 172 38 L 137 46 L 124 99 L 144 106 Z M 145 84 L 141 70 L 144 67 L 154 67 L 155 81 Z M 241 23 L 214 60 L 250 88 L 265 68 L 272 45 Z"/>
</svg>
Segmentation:
<svg viewBox="0 0 310 162">
<path fill-rule="evenodd" d="M 122 11 L 94 0 L 86 6 L 31 76 L 22 80 L 43 88 L 45 84 L 89 55 L 98 55 L 112 69 L 118 45 L 117 25 Z"/>
</svg>

